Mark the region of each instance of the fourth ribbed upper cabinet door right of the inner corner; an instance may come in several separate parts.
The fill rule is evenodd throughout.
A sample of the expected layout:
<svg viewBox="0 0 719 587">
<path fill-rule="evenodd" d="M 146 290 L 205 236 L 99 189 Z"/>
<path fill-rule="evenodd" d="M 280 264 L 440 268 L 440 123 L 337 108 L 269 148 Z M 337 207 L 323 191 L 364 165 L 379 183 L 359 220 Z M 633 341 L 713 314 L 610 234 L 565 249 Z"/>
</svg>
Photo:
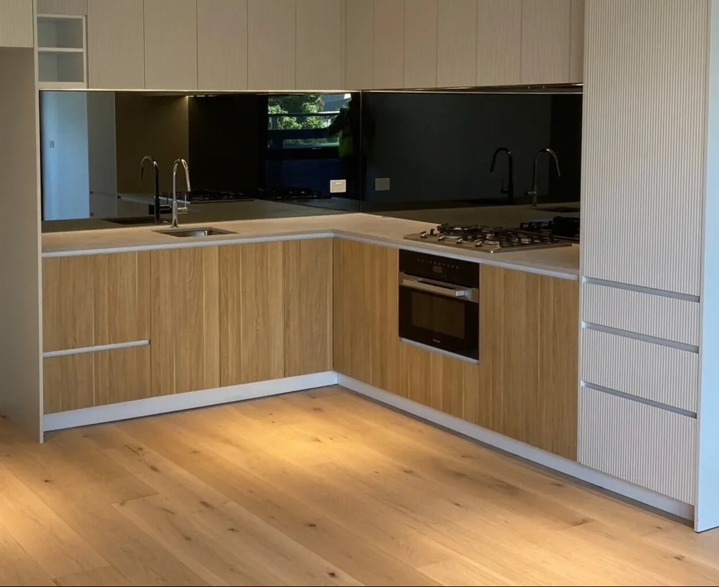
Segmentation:
<svg viewBox="0 0 719 587">
<path fill-rule="evenodd" d="M 477 0 L 439 0 L 437 86 L 477 85 Z"/>
</svg>

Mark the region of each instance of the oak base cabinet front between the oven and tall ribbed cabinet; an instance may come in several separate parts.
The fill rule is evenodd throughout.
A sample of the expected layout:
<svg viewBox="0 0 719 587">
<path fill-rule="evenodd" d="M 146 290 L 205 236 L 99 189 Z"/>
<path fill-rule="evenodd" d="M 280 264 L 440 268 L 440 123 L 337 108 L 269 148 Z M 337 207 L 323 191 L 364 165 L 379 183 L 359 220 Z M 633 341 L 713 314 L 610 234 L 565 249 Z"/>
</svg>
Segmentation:
<svg viewBox="0 0 719 587">
<path fill-rule="evenodd" d="M 482 425 L 576 460 L 579 284 L 483 265 L 480 288 Z"/>
</svg>

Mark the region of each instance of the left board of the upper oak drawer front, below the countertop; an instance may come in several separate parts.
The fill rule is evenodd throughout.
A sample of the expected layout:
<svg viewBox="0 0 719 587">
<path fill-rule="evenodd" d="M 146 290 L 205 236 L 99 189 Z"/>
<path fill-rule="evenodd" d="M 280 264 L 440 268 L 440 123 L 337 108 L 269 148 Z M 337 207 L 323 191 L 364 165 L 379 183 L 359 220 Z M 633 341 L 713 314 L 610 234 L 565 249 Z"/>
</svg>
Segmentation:
<svg viewBox="0 0 719 587">
<path fill-rule="evenodd" d="M 94 262 L 92 257 L 42 260 L 42 350 L 91 347 Z"/>
</svg>

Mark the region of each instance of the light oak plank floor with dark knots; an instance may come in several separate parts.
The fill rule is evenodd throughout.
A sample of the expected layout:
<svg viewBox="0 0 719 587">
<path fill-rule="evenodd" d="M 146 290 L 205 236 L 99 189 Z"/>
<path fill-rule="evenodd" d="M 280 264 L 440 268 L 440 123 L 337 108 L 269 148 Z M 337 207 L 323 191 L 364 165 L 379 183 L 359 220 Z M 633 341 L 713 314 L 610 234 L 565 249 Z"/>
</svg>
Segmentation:
<svg viewBox="0 0 719 587">
<path fill-rule="evenodd" d="M 719 534 L 324 388 L 0 421 L 3 585 L 705 585 Z"/>
</svg>

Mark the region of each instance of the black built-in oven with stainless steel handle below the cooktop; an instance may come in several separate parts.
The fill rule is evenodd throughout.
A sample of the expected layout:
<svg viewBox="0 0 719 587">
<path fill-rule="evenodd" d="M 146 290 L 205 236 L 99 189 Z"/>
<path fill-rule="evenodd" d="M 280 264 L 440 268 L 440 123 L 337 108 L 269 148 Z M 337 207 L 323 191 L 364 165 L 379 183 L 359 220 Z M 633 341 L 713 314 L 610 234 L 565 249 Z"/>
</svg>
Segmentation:
<svg viewBox="0 0 719 587">
<path fill-rule="evenodd" d="M 400 338 L 478 360 L 479 288 L 477 263 L 400 250 Z"/>
</svg>

